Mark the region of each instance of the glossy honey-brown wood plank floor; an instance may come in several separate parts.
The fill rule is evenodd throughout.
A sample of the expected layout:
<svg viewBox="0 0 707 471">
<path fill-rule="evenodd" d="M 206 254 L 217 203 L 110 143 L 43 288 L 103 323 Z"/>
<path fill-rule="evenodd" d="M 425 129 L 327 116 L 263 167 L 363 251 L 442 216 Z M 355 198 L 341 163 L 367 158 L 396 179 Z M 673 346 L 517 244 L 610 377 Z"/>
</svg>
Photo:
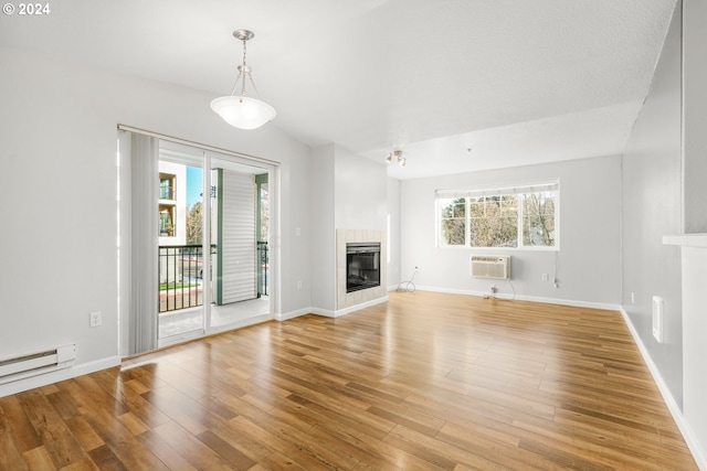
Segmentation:
<svg viewBox="0 0 707 471">
<path fill-rule="evenodd" d="M 697 469 L 620 313 L 390 298 L 0 398 L 0 469 Z"/>
</svg>

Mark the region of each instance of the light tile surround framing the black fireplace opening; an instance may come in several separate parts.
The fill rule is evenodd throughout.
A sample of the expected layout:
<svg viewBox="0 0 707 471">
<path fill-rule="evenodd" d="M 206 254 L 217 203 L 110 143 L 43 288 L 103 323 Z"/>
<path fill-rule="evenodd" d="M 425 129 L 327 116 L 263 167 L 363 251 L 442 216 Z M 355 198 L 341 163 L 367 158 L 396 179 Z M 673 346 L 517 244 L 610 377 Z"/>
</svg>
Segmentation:
<svg viewBox="0 0 707 471">
<path fill-rule="evenodd" d="M 362 289 L 360 291 L 346 292 L 346 244 L 360 242 L 380 243 L 380 286 L 376 288 Z M 388 259 L 388 247 L 386 246 L 386 233 L 372 229 L 336 229 L 336 309 L 337 311 L 371 303 L 371 301 L 388 299 L 388 288 L 386 286 L 386 267 Z"/>
</svg>

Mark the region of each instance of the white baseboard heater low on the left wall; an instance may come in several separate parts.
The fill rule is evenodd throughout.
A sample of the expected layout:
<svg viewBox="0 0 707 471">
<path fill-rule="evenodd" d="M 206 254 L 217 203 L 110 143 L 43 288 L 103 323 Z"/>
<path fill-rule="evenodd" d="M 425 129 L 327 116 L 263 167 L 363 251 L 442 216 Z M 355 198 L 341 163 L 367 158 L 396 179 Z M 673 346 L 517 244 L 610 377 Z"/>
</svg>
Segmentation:
<svg viewBox="0 0 707 471">
<path fill-rule="evenodd" d="M 74 360 L 76 360 L 75 343 L 0 358 L 0 384 L 66 368 Z"/>
</svg>

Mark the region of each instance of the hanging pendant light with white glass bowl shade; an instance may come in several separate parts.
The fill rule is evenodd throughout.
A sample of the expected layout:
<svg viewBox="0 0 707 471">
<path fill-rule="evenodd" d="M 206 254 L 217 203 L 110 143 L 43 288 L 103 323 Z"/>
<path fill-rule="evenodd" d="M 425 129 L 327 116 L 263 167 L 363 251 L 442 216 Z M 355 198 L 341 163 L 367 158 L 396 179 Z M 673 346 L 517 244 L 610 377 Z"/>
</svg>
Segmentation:
<svg viewBox="0 0 707 471">
<path fill-rule="evenodd" d="M 255 95 L 260 98 L 251 67 L 245 65 L 245 43 L 252 40 L 254 34 L 249 30 L 235 30 L 233 36 L 236 40 L 243 41 L 243 64 L 239 65 L 239 76 L 235 78 L 231 95 L 215 98 L 211 101 L 211 109 L 234 128 L 257 129 L 275 118 L 275 108 L 265 101 L 245 96 L 245 79 L 247 76 L 253 85 Z M 235 96 L 233 94 L 239 85 L 239 81 L 241 81 L 241 94 Z"/>
</svg>

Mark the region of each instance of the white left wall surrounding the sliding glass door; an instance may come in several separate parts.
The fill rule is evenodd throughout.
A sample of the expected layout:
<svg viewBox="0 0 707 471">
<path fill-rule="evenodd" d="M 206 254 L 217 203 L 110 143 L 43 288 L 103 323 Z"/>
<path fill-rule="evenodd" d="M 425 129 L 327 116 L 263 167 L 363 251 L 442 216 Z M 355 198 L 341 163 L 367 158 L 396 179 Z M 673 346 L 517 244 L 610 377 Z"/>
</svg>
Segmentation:
<svg viewBox="0 0 707 471">
<path fill-rule="evenodd" d="M 293 281 L 310 278 L 294 236 L 310 221 L 307 147 L 275 124 L 231 128 L 205 93 L 8 50 L 0 64 L 0 357 L 75 342 L 73 372 L 118 361 L 117 124 L 281 162 L 281 310 L 310 304 Z"/>
</svg>

